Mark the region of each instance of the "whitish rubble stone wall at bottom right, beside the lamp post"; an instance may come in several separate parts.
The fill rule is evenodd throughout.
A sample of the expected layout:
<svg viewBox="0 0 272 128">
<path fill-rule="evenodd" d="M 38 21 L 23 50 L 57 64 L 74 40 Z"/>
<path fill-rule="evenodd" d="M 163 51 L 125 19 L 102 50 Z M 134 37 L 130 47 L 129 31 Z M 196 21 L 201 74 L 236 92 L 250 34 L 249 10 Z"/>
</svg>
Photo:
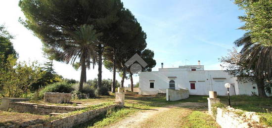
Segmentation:
<svg viewBox="0 0 272 128">
<path fill-rule="evenodd" d="M 259 124 L 260 118 L 255 112 L 245 112 L 231 107 L 217 108 L 216 122 L 222 128 L 266 128 Z"/>
</svg>

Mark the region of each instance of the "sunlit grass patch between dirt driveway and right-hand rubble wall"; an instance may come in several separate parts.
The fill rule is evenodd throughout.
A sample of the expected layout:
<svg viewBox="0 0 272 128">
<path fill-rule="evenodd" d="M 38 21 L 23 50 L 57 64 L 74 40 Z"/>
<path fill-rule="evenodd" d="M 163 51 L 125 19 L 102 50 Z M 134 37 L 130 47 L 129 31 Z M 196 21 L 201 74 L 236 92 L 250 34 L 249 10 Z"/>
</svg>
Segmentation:
<svg viewBox="0 0 272 128">
<path fill-rule="evenodd" d="M 200 111 L 193 111 L 182 120 L 182 128 L 220 128 L 215 120 Z"/>
</svg>

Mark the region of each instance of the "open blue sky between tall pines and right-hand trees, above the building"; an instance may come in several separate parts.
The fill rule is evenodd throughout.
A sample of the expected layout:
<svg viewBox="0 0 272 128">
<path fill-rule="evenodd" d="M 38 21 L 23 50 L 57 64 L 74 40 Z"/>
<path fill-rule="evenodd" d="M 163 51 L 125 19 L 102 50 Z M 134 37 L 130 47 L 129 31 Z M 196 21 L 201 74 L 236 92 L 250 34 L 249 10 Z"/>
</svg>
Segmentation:
<svg viewBox="0 0 272 128">
<path fill-rule="evenodd" d="M 220 70 L 218 58 L 227 54 L 243 15 L 232 0 L 123 0 L 147 34 L 147 48 L 154 50 L 157 67 L 196 65 Z M 154 70 L 157 70 L 155 68 Z"/>
</svg>

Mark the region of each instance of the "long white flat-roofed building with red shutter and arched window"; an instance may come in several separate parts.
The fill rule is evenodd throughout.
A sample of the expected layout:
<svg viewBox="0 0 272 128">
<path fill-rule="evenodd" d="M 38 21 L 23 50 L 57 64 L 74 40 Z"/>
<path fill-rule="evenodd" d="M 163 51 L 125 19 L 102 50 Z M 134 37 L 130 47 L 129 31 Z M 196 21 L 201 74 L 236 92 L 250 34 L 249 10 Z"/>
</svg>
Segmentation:
<svg viewBox="0 0 272 128">
<path fill-rule="evenodd" d="M 139 94 L 154 95 L 166 93 L 166 88 L 188 89 L 190 95 L 209 95 L 217 91 L 218 95 L 227 95 L 225 84 L 231 84 L 230 95 L 258 94 L 257 85 L 239 83 L 236 77 L 224 70 L 204 70 L 204 65 L 186 65 L 179 68 L 159 68 L 159 71 L 141 72 L 139 74 Z"/>
</svg>

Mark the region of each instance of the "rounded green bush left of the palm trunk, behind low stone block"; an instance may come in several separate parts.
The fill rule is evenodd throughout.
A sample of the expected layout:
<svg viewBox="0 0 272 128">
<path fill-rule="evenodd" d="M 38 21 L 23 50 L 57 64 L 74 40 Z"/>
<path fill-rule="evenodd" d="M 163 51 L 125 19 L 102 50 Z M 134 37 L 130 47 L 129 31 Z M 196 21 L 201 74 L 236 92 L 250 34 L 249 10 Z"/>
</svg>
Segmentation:
<svg viewBox="0 0 272 128">
<path fill-rule="evenodd" d="M 45 95 L 45 92 L 64 92 L 64 93 L 71 93 L 74 90 L 71 84 L 68 84 L 67 82 L 58 82 L 54 84 L 50 84 L 45 86 L 40 91 L 39 97 L 43 98 Z"/>
</svg>

